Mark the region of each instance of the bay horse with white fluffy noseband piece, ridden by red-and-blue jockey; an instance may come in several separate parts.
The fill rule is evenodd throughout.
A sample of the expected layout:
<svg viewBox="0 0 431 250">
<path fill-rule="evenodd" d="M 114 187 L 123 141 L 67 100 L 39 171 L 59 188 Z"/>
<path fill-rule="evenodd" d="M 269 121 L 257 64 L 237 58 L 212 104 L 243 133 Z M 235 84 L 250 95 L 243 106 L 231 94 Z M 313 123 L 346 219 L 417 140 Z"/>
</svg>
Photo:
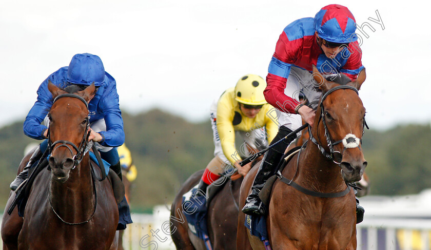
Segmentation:
<svg viewBox="0 0 431 250">
<path fill-rule="evenodd" d="M 365 80 L 365 70 L 345 86 L 327 82 L 315 67 L 314 78 L 324 95 L 311 128 L 313 143 L 308 143 L 299 160 L 293 157 L 282 171 L 284 178 L 314 193 L 305 194 L 276 180 L 266 215 L 272 249 L 351 250 L 357 245 L 355 195 L 346 182 L 359 181 L 367 164 L 360 145 L 365 108 L 357 92 Z M 242 183 L 240 207 L 245 204 L 256 172 L 254 167 Z M 339 197 L 327 198 L 335 194 Z M 237 248 L 263 249 L 257 237 L 249 237 L 244 221 L 245 215 L 240 213 Z"/>
</svg>

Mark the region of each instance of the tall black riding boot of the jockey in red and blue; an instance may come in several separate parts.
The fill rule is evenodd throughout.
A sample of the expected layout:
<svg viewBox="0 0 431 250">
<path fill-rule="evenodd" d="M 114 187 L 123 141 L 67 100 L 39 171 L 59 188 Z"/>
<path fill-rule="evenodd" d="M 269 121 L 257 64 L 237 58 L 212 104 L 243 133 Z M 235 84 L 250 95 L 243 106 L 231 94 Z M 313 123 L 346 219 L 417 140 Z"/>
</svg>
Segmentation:
<svg viewBox="0 0 431 250">
<path fill-rule="evenodd" d="M 277 136 L 272 140 L 271 143 L 276 143 L 282 138 L 286 137 L 292 130 L 287 127 L 281 126 Z M 262 190 L 265 182 L 269 177 L 273 176 L 277 171 L 277 166 L 284 156 L 284 151 L 287 146 L 295 140 L 296 134 L 292 137 L 285 139 L 283 142 L 277 144 L 275 147 L 269 149 L 262 160 L 259 167 L 258 174 L 254 178 L 253 186 L 251 187 L 251 194 L 248 195 L 245 202 L 245 206 L 242 211 L 247 215 L 265 215 L 266 210 L 264 204 L 259 199 L 259 192 Z M 271 144 L 272 145 L 272 144 Z"/>
</svg>

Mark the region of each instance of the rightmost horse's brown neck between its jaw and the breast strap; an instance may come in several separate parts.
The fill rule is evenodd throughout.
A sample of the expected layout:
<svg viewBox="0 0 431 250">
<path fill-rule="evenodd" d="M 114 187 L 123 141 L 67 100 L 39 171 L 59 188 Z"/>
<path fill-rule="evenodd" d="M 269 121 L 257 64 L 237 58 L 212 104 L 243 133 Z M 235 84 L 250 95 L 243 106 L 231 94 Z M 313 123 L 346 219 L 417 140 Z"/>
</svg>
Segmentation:
<svg viewBox="0 0 431 250">
<path fill-rule="evenodd" d="M 340 167 L 322 155 L 314 143 L 307 143 L 298 163 L 294 181 L 321 193 L 334 193 L 345 189 Z"/>
</svg>

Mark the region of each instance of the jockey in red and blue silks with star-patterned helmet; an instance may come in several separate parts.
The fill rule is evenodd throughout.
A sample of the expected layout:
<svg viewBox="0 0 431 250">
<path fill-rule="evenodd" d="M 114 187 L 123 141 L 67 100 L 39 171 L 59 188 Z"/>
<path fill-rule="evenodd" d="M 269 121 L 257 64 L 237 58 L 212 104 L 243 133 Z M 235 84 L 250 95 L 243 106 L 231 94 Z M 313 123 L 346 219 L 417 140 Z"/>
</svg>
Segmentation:
<svg viewBox="0 0 431 250">
<path fill-rule="evenodd" d="M 328 5 L 314 18 L 301 18 L 284 28 L 268 67 L 264 91 L 266 101 L 281 111 L 279 132 L 272 143 L 300 127 L 301 117 L 312 125 L 315 117 L 313 108 L 317 106 L 321 94 L 312 80 L 312 65 L 316 65 L 324 75 L 341 72 L 351 80 L 355 80 L 364 68 L 355 22 L 355 17 L 346 7 Z M 300 94 L 305 95 L 310 107 L 300 103 Z M 265 153 L 251 194 L 242 209 L 244 213 L 266 213 L 258 196 L 259 191 L 266 180 L 275 174 L 285 149 L 295 138 L 286 139 Z"/>
</svg>

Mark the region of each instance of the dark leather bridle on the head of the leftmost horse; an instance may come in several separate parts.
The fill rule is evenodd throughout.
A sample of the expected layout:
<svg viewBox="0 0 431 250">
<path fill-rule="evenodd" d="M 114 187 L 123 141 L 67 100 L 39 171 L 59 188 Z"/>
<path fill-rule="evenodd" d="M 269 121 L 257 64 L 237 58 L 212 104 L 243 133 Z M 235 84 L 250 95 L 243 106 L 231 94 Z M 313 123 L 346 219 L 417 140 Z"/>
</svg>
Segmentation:
<svg viewBox="0 0 431 250">
<path fill-rule="evenodd" d="M 64 98 L 64 97 L 72 97 L 72 98 L 79 99 L 80 101 L 82 101 L 85 104 L 85 107 L 88 110 L 87 101 L 85 101 L 84 98 L 82 98 L 82 97 L 80 97 L 79 95 L 76 95 L 76 94 L 62 94 L 62 95 L 58 95 L 58 97 L 56 97 L 54 99 L 54 102 L 52 104 L 54 104 L 58 99 Z M 83 136 L 83 138 L 81 140 L 81 143 L 80 143 L 79 147 L 77 147 L 72 142 L 69 142 L 69 141 L 66 141 L 66 140 L 58 140 L 58 141 L 55 141 L 55 142 L 52 143 L 50 135 L 49 135 L 50 133 L 49 133 L 49 127 L 48 127 L 48 150 L 49 150 L 49 154 L 51 155 L 52 152 L 55 149 L 59 148 L 59 147 L 67 147 L 69 149 L 69 151 L 70 151 L 70 153 L 72 155 L 72 159 L 73 159 L 73 167 L 72 167 L 72 169 L 75 168 L 76 165 L 80 164 L 80 162 L 82 161 L 82 158 L 84 156 L 85 149 L 88 147 L 88 137 L 90 136 L 90 129 L 89 129 L 90 128 L 90 121 L 89 121 L 88 117 L 85 119 L 85 121 L 86 121 L 86 131 L 87 132 L 84 132 L 84 136 Z M 60 145 L 58 145 L 56 148 L 54 148 L 54 146 L 56 144 L 60 144 Z M 69 145 L 72 146 L 73 149 L 76 150 L 76 154 L 75 155 L 73 155 L 73 151 L 72 151 L 72 149 L 70 148 Z"/>
</svg>

